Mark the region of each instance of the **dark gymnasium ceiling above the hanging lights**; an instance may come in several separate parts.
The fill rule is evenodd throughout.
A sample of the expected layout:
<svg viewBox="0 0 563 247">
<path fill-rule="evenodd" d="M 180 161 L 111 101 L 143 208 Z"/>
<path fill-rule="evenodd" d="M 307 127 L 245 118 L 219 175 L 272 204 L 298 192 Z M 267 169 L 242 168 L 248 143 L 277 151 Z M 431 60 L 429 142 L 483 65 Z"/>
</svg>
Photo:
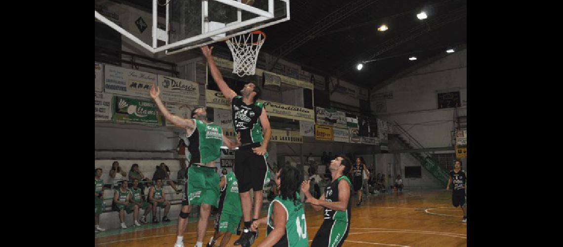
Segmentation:
<svg viewBox="0 0 563 247">
<path fill-rule="evenodd" d="M 150 9 L 152 1 L 122 2 Z M 343 11 L 355 5 L 364 7 L 351 14 Z M 343 80 L 367 88 L 467 43 L 467 0 L 290 0 L 290 8 L 291 20 L 263 29 L 267 40 L 261 51 L 285 53 L 283 59 L 307 71 L 339 73 Z M 327 27 L 324 18 L 335 11 L 335 18 L 346 17 Z M 427 13 L 426 20 L 417 19 L 421 11 Z M 388 30 L 378 32 L 381 24 Z M 296 46 L 293 37 L 307 41 Z M 409 61 L 411 56 L 417 60 Z M 367 60 L 377 61 L 356 70 L 358 62 Z"/>
</svg>

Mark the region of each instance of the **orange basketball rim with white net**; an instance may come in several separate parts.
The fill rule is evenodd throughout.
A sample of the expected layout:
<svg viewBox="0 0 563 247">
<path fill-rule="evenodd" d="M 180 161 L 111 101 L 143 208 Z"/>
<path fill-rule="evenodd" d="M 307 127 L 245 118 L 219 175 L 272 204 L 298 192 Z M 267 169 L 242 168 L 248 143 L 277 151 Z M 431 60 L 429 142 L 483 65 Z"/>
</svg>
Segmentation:
<svg viewBox="0 0 563 247">
<path fill-rule="evenodd" d="M 233 55 L 233 73 L 239 77 L 253 75 L 256 71 L 258 52 L 266 41 L 266 34 L 256 30 L 227 39 L 227 46 Z"/>
</svg>

